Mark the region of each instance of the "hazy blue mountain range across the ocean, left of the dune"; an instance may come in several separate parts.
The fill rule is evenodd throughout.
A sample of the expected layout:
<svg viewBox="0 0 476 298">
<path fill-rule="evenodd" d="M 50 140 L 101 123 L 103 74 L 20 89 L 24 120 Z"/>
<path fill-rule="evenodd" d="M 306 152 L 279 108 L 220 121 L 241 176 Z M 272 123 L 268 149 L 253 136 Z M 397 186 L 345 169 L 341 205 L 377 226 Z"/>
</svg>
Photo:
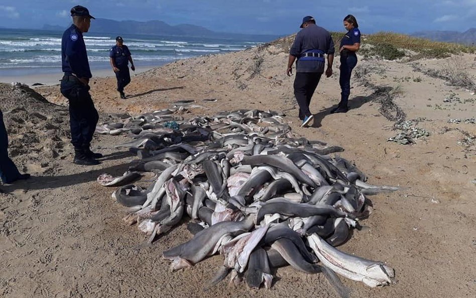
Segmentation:
<svg viewBox="0 0 476 298">
<path fill-rule="evenodd" d="M 64 30 L 61 26 L 44 25 L 44 30 Z M 238 33 L 215 32 L 196 25 L 176 25 L 171 26 L 162 21 L 114 21 L 108 19 L 93 20 L 89 29 L 91 33 L 109 33 L 113 35 L 121 34 L 141 34 L 141 35 L 162 35 L 162 36 L 183 36 L 183 37 L 207 37 L 219 39 L 242 39 L 251 41 L 274 40 L 276 35 L 250 35 Z"/>
</svg>

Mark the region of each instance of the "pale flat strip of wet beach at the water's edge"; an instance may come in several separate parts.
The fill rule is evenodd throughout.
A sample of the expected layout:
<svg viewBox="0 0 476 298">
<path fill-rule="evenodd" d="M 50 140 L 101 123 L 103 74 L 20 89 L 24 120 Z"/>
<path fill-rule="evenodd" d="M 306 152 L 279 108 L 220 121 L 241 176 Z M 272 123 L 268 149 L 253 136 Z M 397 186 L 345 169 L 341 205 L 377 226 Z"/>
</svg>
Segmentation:
<svg viewBox="0 0 476 298">
<path fill-rule="evenodd" d="M 131 70 L 131 77 L 138 75 L 142 72 L 146 72 L 153 68 L 159 67 L 158 65 L 136 65 L 136 71 Z M 91 70 L 92 78 L 106 78 L 114 77 L 114 72 L 111 68 L 101 68 Z M 12 82 L 20 82 L 30 87 L 35 83 L 40 83 L 41 86 L 54 86 L 60 83 L 60 79 L 63 77 L 63 72 L 52 72 L 42 74 L 27 74 L 27 75 L 0 75 L 0 83 L 11 84 Z"/>
</svg>

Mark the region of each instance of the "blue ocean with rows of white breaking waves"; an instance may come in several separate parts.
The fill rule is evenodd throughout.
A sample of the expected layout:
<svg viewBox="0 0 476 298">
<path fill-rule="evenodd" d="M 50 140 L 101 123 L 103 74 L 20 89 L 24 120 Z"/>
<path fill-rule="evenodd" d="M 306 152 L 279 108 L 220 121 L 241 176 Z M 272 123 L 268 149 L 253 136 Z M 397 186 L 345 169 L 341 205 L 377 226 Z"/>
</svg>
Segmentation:
<svg viewBox="0 0 476 298">
<path fill-rule="evenodd" d="M 62 31 L 0 29 L 0 76 L 61 72 Z M 122 35 L 136 66 L 160 66 L 179 59 L 240 51 L 263 41 Z M 85 33 L 91 71 L 107 69 L 115 35 Z M 94 75 L 94 73 L 93 73 Z"/>
</svg>

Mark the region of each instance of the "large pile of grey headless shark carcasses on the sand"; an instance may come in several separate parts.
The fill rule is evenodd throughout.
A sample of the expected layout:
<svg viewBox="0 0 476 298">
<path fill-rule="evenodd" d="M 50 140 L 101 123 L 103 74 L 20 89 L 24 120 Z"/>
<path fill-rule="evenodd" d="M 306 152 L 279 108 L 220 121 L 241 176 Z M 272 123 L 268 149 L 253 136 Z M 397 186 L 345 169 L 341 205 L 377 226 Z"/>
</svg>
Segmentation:
<svg viewBox="0 0 476 298">
<path fill-rule="evenodd" d="M 371 214 L 368 195 L 398 187 L 368 184 L 335 154 L 343 148 L 295 137 L 281 113 L 237 110 L 189 120 L 183 113 L 183 106 L 165 109 L 96 129 L 132 138 L 116 146 L 137 154 L 129 170 L 97 180 L 117 187 L 112 197 L 126 207 L 124 221 L 149 236 L 142 245 L 188 222 L 191 239 L 162 254 L 172 270 L 219 254 L 223 265 L 206 288 L 227 275 L 234 284 L 270 288 L 274 268 L 288 265 L 323 273 L 342 297 L 349 291 L 339 276 L 371 287 L 393 282 L 384 262 L 336 247 Z M 147 188 L 132 184 L 142 172 L 155 173 Z"/>
</svg>

